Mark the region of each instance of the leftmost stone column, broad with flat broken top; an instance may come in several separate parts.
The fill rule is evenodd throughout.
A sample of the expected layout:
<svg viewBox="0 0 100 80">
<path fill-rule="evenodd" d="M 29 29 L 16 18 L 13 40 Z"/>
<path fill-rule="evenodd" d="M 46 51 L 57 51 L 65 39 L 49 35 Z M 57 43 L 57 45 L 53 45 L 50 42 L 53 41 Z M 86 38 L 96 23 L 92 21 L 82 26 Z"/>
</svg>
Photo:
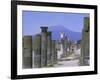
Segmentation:
<svg viewBox="0 0 100 80">
<path fill-rule="evenodd" d="M 32 68 L 32 36 L 23 37 L 22 67 Z"/>
</svg>

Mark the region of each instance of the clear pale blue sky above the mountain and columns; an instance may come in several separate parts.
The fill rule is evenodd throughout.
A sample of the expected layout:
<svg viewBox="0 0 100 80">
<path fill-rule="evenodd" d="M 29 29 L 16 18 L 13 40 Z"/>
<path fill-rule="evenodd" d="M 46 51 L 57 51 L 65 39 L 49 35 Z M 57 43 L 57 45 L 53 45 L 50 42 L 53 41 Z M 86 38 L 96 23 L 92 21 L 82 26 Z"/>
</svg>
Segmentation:
<svg viewBox="0 0 100 80">
<path fill-rule="evenodd" d="M 83 18 L 89 14 L 23 11 L 23 35 L 35 35 L 41 32 L 41 26 L 61 25 L 75 32 L 82 32 Z"/>
</svg>

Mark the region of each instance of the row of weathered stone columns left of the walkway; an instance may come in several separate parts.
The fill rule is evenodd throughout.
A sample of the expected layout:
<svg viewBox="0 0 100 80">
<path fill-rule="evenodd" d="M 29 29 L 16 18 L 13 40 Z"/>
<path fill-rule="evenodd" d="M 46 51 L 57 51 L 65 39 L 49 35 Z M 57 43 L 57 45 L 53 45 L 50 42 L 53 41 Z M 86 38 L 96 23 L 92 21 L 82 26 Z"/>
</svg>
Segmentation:
<svg viewBox="0 0 100 80">
<path fill-rule="evenodd" d="M 57 63 L 56 41 L 48 27 L 41 27 L 41 34 L 23 37 L 23 68 L 41 68 Z"/>
</svg>

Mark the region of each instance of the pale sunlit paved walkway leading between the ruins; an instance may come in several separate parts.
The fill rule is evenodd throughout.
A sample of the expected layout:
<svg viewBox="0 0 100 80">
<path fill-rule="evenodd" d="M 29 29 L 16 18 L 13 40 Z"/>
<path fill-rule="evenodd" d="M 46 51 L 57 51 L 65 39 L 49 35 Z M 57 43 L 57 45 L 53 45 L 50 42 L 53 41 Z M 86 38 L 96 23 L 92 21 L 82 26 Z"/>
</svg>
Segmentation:
<svg viewBox="0 0 100 80">
<path fill-rule="evenodd" d="M 71 54 L 69 57 L 61 58 L 58 63 L 54 65 L 54 67 L 79 66 L 79 54 L 80 49 Z"/>
</svg>

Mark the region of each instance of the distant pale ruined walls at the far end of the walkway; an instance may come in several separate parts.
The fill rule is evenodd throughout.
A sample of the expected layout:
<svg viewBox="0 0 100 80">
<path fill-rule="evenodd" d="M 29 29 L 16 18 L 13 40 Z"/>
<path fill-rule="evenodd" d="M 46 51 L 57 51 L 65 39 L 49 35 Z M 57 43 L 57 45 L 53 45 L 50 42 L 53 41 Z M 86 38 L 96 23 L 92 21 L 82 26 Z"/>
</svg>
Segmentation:
<svg viewBox="0 0 100 80">
<path fill-rule="evenodd" d="M 64 32 L 61 32 L 61 38 L 57 46 L 58 59 L 67 57 L 68 54 L 72 52 L 74 53 L 76 50 L 76 44 L 74 41 L 69 40 L 68 36 Z"/>
</svg>

